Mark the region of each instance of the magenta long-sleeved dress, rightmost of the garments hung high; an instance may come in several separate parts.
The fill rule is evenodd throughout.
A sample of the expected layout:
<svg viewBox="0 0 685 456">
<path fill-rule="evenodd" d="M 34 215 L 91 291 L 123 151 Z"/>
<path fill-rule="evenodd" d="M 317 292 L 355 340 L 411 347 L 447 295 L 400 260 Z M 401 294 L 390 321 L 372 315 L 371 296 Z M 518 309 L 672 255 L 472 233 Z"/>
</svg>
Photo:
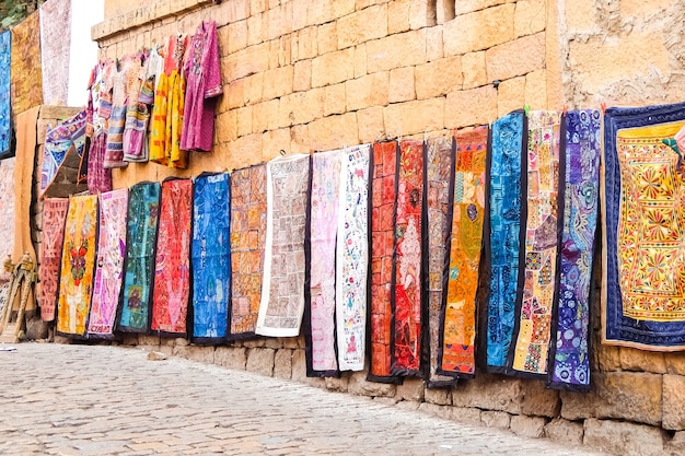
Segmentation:
<svg viewBox="0 0 685 456">
<path fill-rule="evenodd" d="M 190 39 L 181 149 L 210 151 L 214 141 L 217 97 L 223 93 L 214 21 L 202 21 Z"/>
</svg>

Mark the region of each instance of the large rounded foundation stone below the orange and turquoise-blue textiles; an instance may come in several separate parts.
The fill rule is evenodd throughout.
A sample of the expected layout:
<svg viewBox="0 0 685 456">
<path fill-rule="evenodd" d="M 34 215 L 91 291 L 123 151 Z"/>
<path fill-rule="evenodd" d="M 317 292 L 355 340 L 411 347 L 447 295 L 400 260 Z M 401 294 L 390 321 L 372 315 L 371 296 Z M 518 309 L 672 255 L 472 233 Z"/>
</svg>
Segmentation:
<svg viewBox="0 0 685 456">
<path fill-rule="evenodd" d="M 452 405 L 455 407 L 477 407 L 510 413 L 521 413 L 523 397 L 520 379 L 491 374 L 478 375 L 452 389 Z"/>
</svg>

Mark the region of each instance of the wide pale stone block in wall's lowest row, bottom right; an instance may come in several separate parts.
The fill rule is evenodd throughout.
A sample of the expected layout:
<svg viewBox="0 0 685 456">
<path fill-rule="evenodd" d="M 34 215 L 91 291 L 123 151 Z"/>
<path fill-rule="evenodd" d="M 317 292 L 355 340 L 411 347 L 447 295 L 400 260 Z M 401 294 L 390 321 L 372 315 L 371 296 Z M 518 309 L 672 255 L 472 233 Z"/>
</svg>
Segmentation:
<svg viewBox="0 0 685 456">
<path fill-rule="evenodd" d="M 663 435 L 657 428 L 618 421 L 589 419 L 583 444 L 626 456 L 663 455 Z"/>
</svg>

